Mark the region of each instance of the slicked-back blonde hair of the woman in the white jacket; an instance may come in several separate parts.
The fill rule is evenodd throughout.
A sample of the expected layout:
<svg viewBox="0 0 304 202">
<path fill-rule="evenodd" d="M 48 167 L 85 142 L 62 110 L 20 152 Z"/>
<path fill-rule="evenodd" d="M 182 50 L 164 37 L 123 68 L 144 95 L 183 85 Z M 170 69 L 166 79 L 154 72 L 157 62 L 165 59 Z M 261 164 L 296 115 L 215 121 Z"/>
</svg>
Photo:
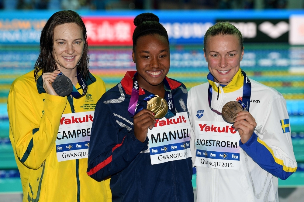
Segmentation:
<svg viewBox="0 0 304 202">
<path fill-rule="evenodd" d="M 204 49 L 206 49 L 207 40 L 210 36 L 217 35 L 234 35 L 240 41 L 240 47 L 243 48 L 243 36 L 239 29 L 229 22 L 218 22 L 215 25 L 209 27 L 204 36 Z"/>
</svg>

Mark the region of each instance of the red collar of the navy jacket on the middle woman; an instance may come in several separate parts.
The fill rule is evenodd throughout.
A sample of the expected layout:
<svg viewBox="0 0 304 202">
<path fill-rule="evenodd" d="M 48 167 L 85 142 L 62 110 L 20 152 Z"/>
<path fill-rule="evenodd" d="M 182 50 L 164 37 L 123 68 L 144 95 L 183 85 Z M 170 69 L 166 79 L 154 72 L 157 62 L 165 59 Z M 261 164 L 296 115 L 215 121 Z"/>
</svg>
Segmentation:
<svg viewBox="0 0 304 202">
<path fill-rule="evenodd" d="M 133 88 L 133 77 L 136 71 L 128 71 L 126 72 L 126 75 L 121 80 L 121 85 L 123 86 L 123 89 L 126 91 L 126 94 L 131 95 L 132 94 L 132 88 Z M 177 89 L 179 86 L 181 86 L 181 83 L 174 81 L 172 79 L 169 79 L 167 76 L 165 79 L 168 81 L 170 90 Z M 139 87 L 139 95 L 144 95 L 145 91 Z"/>
</svg>

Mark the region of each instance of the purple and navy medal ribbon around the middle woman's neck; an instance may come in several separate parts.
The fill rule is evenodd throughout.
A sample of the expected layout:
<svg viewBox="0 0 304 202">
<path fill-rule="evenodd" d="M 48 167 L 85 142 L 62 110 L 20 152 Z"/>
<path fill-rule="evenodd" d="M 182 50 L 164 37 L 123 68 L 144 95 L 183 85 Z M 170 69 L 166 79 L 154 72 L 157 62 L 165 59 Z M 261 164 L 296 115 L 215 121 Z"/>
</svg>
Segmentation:
<svg viewBox="0 0 304 202">
<path fill-rule="evenodd" d="M 129 102 L 128 112 L 131 117 L 133 117 L 135 114 L 140 112 L 142 109 L 144 109 L 145 102 L 150 101 L 150 99 L 156 97 L 156 95 L 150 94 L 149 96 L 146 96 L 143 100 L 138 103 L 139 99 L 139 86 L 136 79 L 137 72 L 133 76 L 133 87 L 132 87 L 132 93 L 131 93 L 131 99 Z M 174 101 L 172 99 L 172 93 L 169 86 L 169 83 L 166 79 L 164 79 L 164 87 L 165 87 L 165 100 L 168 103 L 168 112 L 166 113 L 165 117 L 167 119 L 172 118 L 175 116 L 175 108 L 174 108 Z"/>
</svg>

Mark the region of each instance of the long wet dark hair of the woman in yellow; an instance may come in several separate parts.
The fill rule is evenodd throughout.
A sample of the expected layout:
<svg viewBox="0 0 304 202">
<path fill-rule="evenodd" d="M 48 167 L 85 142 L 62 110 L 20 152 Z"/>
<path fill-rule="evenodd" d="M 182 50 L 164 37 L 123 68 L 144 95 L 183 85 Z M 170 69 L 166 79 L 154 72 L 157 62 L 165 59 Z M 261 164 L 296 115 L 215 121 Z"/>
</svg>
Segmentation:
<svg viewBox="0 0 304 202">
<path fill-rule="evenodd" d="M 44 25 L 40 36 L 40 53 L 34 66 L 35 80 L 45 72 L 53 72 L 57 70 L 57 65 L 53 57 L 54 50 L 54 28 L 58 25 L 66 23 L 75 23 L 82 31 L 84 39 L 84 48 L 82 56 L 77 63 L 77 70 L 84 79 L 89 78 L 89 57 L 88 57 L 88 43 L 87 30 L 83 23 L 81 16 L 74 11 L 59 11 L 54 13 L 47 23 Z"/>
</svg>

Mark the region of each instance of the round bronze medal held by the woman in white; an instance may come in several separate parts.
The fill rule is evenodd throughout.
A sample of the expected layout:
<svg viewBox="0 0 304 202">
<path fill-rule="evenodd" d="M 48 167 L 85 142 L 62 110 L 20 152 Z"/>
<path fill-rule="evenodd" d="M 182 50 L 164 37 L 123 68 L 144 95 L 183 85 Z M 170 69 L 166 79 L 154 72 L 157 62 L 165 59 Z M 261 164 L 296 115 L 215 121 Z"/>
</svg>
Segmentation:
<svg viewBox="0 0 304 202">
<path fill-rule="evenodd" d="M 227 123 L 234 123 L 235 114 L 244 111 L 242 105 L 236 101 L 230 101 L 223 106 L 222 117 Z"/>
</svg>

